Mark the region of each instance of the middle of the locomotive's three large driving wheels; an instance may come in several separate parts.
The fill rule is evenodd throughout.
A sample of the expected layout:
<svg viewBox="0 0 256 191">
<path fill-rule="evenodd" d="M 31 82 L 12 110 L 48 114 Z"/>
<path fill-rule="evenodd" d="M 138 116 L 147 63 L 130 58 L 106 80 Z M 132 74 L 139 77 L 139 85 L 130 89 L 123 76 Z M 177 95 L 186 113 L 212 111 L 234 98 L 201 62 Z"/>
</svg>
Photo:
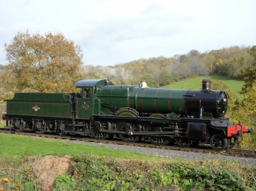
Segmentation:
<svg viewBox="0 0 256 191">
<path fill-rule="evenodd" d="M 140 136 L 132 135 L 132 132 L 139 132 L 140 129 L 141 129 L 140 124 L 138 124 L 135 121 L 128 121 L 126 123 L 123 123 L 120 129 L 123 132 L 128 132 L 128 134 L 119 134 L 119 137 L 124 142 L 136 142 L 139 140 Z"/>
</svg>

